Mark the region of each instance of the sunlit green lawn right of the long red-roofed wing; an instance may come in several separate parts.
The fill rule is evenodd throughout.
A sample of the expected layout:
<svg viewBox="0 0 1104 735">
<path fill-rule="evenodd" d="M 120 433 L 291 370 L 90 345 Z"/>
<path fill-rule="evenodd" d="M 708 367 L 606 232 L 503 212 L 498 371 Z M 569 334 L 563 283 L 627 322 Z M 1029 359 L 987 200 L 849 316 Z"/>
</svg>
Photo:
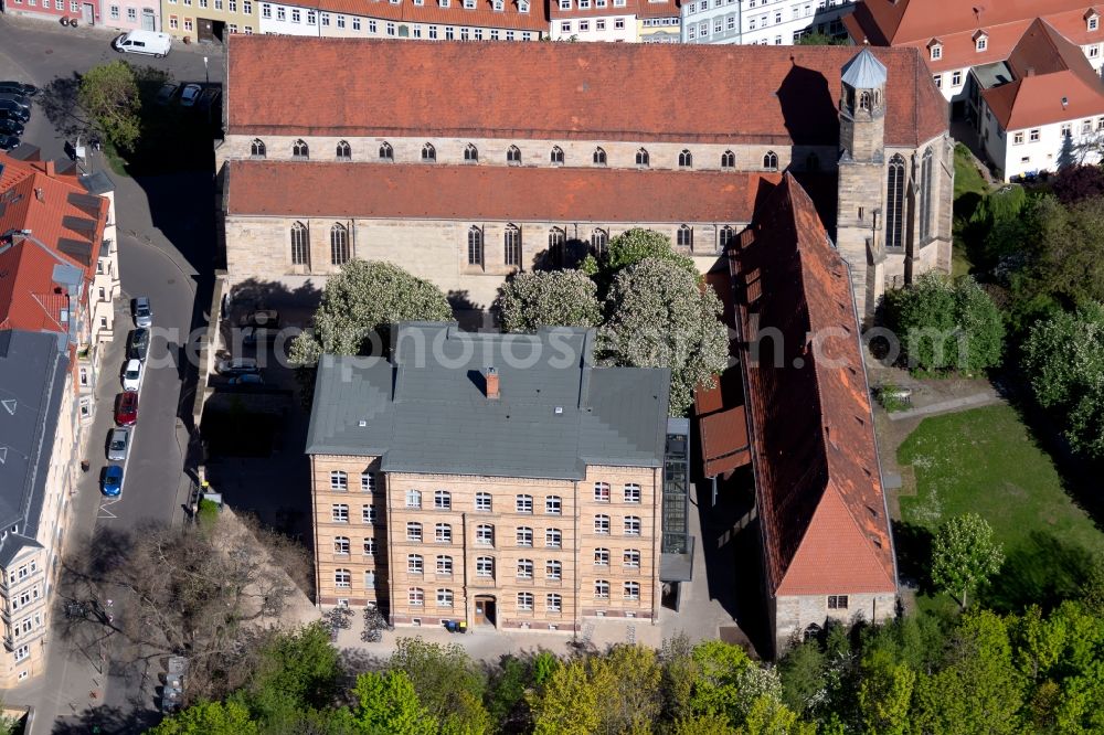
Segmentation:
<svg viewBox="0 0 1104 735">
<path fill-rule="evenodd" d="M 985 518 L 1007 561 L 988 601 L 1017 608 L 1075 594 L 1104 533 L 1063 489 L 1050 456 L 1005 405 L 925 418 L 898 449 L 916 494 L 902 496 L 899 555 L 926 566 L 927 534 L 968 511 Z"/>
</svg>

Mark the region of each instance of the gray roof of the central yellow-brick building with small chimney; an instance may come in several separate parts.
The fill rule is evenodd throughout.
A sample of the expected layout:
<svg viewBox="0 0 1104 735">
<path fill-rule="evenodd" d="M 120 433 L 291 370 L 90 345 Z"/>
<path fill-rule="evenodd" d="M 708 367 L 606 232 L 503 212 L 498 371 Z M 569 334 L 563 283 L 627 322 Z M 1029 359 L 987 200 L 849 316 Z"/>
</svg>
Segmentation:
<svg viewBox="0 0 1104 735">
<path fill-rule="evenodd" d="M 392 339 L 390 362 L 322 359 L 307 454 L 379 455 L 389 472 L 570 480 L 587 465 L 662 466 L 670 372 L 594 366 L 593 330 L 421 322 Z M 485 394 L 490 366 L 497 401 Z"/>
</svg>

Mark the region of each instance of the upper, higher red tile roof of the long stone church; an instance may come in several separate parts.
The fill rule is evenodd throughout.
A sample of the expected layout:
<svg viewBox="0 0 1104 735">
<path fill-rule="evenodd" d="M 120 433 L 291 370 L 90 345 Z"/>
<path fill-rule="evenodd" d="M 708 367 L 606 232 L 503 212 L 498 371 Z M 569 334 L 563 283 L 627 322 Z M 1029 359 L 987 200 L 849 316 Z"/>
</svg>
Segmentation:
<svg viewBox="0 0 1104 735">
<path fill-rule="evenodd" d="M 835 146 L 840 68 L 854 53 L 235 34 L 229 132 Z M 919 53 L 875 54 L 889 73 L 887 145 L 942 135 L 946 102 Z"/>
</svg>

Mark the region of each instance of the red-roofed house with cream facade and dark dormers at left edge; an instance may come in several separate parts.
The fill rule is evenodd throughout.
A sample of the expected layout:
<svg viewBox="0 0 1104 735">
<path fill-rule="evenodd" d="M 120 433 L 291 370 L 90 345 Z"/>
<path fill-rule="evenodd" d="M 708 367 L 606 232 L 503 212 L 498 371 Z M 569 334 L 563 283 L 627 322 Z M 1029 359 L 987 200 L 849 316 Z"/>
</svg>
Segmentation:
<svg viewBox="0 0 1104 735">
<path fill-rule="evenodd" d="M 104 173 L 40 161 L 32 146 L 0 155 L 0 329 L 65 337 L 82 422 L 120 294 L 113 189 Z"/>
</svg>

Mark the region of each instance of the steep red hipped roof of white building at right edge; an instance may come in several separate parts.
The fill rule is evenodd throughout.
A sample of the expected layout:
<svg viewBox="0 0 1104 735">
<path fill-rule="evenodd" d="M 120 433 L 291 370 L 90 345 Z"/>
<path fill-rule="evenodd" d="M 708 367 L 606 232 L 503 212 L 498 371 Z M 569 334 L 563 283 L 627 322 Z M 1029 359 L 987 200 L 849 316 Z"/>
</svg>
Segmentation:
<svg viewBox="0 0 1104 735">
<path fill-rule="evenodd" d="M 1104 115 L 1104 82 L 1081 49 L 1042 20 L 1008 56 L 1016 79 L 981 92 L 1005 130 Z"/>
</svg>

